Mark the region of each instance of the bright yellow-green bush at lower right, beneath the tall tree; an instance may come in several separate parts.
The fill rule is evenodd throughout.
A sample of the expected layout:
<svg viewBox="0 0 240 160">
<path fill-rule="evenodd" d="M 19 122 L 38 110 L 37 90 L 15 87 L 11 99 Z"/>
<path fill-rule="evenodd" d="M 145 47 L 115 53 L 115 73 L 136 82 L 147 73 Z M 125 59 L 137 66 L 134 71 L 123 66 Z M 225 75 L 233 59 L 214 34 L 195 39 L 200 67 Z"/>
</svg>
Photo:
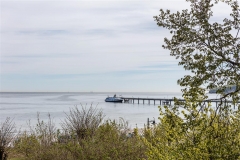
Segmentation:
<svg viewBox="0 0 240 160">
<path fill-rule="evenodd" d="M 181 112 L 174 107 L 160 109 L 160 124 L 143 138 L 149 159 L 240 158 L 239 111 L 216 113 L 205 106 L 201 111 Z"/>
</svg>

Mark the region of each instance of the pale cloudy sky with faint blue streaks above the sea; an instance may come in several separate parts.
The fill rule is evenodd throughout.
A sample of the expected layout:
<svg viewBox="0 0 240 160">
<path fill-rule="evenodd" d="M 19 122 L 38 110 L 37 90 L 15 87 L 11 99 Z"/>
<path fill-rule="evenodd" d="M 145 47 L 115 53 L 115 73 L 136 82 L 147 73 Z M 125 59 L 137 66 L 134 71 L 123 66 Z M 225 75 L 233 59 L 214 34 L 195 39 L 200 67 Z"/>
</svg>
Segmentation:
<svg viewBox="0 0 240 160">
<path fill-rule="evenodd" d="M 226 5 L 216 9 L 224 17 Z M 159 9 L 185 0 L 1 0 L 1 92 L 180 92 Z"/>
</svg>

